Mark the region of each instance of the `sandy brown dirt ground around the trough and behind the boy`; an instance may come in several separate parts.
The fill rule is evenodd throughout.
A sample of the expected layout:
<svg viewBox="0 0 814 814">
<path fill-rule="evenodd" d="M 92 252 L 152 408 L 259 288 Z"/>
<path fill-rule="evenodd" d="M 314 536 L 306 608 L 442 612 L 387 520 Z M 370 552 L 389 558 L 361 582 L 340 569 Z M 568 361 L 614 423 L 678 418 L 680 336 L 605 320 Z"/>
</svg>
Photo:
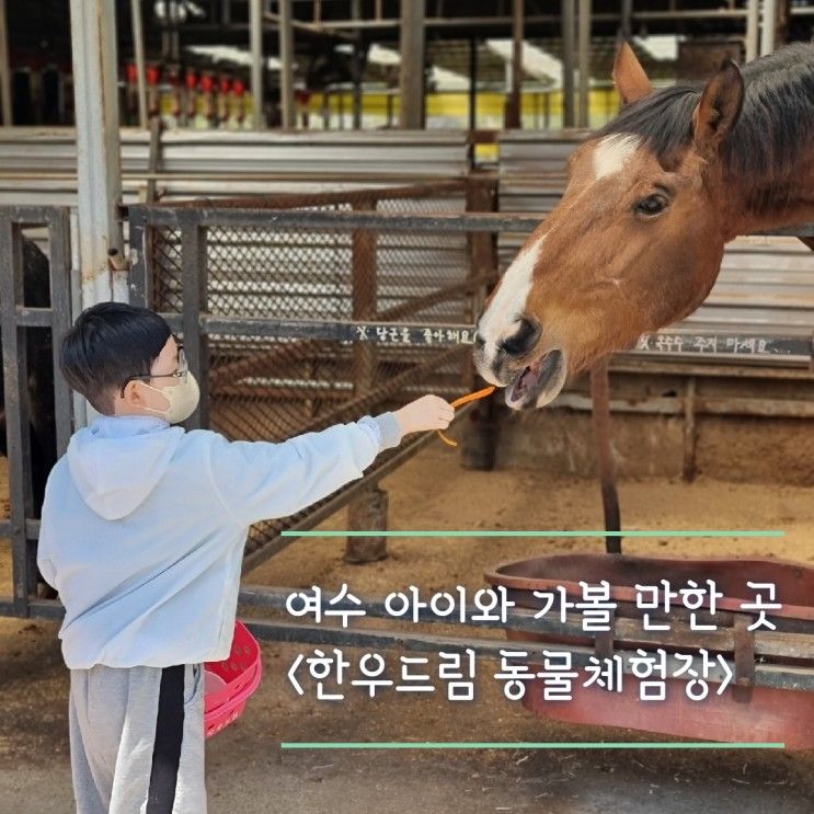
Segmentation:
<svg viewBox="0 0 814 814">
<path fill-rule="evenodd" d="M 388 478 L 391 528 L 580 529 L 601 523 L 593 481 L 548 472 L 470 472 L 435 445 Z M 699 480 L 621 484 L 628 528 L 779 528 L 782 540 L 667 540 L 627 543 L 628 553 L 752 554 L 814 562 L 814 491 Z M 344 513 L 325 528 L 343 528 Z M 397 539 L 387 560 L 349 565 L 344 541 L 300 540 L 255 570 L 251 583 L 337 588 L 377 596 L 414 584 L 425 592 L 483 586 L 498 562 L 558 551 L 599 550 L 592 539 Z M 0 551 L 3 543 L 0 543 Z M 8 593 L 8 553 L 0 593 Z M 365 623 L 371 627 L 370 622 Z M 0 800 L 16 814 L 72 811 L 66 722 L 67 675 L 57 627 L 0 619 Z M 445 631 L 446 632 L 446 631 Z M 209 811 L 293 814 L 458 812 L 814 811 L 814 753 L 562 748 L 466 752 L 294 752 L 280 742 L 665 741 L 627 730 L 574 727 L 526 712 L 479 667 L 475 699 L 386 692 L 318 701 L 297 697 L 286 672 L 309 645 L 263 646 L 265 677 L 243 718 L 209 741 Z M 346 651 L 346 655 L 354 655 Z M 484 663 L 491 666 L 491 663 Z"/>
</svg>

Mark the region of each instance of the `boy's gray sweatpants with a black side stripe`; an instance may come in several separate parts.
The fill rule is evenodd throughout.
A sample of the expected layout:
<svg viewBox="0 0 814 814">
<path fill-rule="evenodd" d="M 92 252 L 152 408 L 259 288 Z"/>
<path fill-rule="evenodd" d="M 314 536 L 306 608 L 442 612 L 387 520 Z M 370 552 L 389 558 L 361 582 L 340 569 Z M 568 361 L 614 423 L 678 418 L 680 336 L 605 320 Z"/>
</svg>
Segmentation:
<svg viewBox="0 0 814 814">
<path fill-rule="evenodd" d="M 78 814 L 205 814 L 200 665 L 70 674 Z"/>
</svg>

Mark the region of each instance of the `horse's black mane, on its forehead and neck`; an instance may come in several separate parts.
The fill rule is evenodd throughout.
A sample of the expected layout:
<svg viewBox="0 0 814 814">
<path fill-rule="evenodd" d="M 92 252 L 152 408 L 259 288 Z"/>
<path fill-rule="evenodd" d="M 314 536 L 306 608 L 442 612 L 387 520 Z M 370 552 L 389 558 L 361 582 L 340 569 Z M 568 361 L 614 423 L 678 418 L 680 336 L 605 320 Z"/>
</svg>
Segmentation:
<svg viewBox="0 0 814 814">
<path fill-rule="evenodd" d="M 814 138 L 814 45 L 794 43 L 742 68 L 746 95 L 724 142 L 727 172 L 759 177 L 793 172 Z M 667 88 L 632 103 L 597 137 L 632 134 L 672 165 L 692 141 L 692 112 L 704 82 Z"/>
</svg>

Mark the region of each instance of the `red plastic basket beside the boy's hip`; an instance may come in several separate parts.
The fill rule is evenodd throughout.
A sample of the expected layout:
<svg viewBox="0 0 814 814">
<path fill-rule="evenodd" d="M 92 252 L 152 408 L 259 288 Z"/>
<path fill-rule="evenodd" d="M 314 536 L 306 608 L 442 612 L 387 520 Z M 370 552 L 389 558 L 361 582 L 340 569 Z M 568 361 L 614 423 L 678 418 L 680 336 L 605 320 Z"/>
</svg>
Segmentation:
<svg viewBox="0 0 814 814">
<path fill-rule="evenodd" d="M 209 687 L 204 691 L 204 727 L 211 737 L 243 712 L 247 699 L 260 686 L 263 664 L 257 640 L 242 622 L 234 622 L 234 638 L 229 657 L 207 662 L 204 679 L 209 674 Z"/>
</svg>

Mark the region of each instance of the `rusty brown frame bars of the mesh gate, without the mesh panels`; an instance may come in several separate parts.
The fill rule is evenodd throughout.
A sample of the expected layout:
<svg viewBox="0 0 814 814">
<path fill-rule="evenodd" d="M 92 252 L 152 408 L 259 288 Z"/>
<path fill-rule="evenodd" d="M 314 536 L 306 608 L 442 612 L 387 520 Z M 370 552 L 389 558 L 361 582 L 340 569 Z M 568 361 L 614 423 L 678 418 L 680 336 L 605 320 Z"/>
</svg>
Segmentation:
<svg viewBox="0 0 814 814">
<path fill-rule="evenodd" d="M 130 299 L 137 303 L 148 303 L 149 293 L 153 290 L 152 241 L 158 230 L 170 228 L 175 234 L 180 233 L 181 242 L 181 273 L 183 311 L 181 313 L 162 312 L 162 316 L 173 326 L 184 334 L 187 348 L 190 368 L 195 374 L 202 388 L 202 409 L 187 422 L 188 427 L 207 425 L 205 414 L 208 401 L 207 385 L 215 381 L 225 381 L 225 368 L 214 371 L 211 381 L 205 369 L 209 354 L 206 342 L 210 335 L 230 337 L 266 337 L 273 340 L 295 340 L 301 353 L 312 347 L 313 343 L 330 341 L 332 343 L 352 344 L 354 368 L 357 378 L 354 393 L 348 399 L 336 399 L 335 405 L 320 414 L 319 420 L 298 426 L 297 432 L 317 429 L 328 419 L 333 421 L 348 420 L 348 412 L 360 413 L 374 408 L 377 401 L 394 395 L 400 388 L 408 387 L 416 375 L 429 372 L 455 359 L 462 351 L 462 345 L 472 342 L 471 323 L 467 328 L 458 324 L 414 323 L 409 319 L 431 306 L 463 297 L 471 299 L 472 320 L 475 310 L 485 298 L 488 286 L 494 284 L 497 275 L 496 253 L 493 251 L 493 234 L 501 226 L 506 228 L 508 220 L 495 222 L 494 214 L 488 214 L 483 219 L 482 213 L 472 213 L 475 207 L 494 207 L 496 205 L 495 181 L 491 177 L 472 179 L 468 181 L 449 181 L 436 184 L 415 184 L 412 186 L 385 187 L 359 190 L 340 193 L 291 194 L 274 195 L 267 198 L 238 198 L 225 202 L 195 200 L 182 205 L 160 204 L 156 206 L 135 205 L 128 209 L 130 221 Z M 465 197 L 469 213 L 457 213 L 452 216 L 440 214 L 438 217 L 415 216 L 409 213 L 390 213 L 377 210 L 382 200 L 412 200 L 434 199 L 449 196 Z M 319 209 L 314 207 L 342 207 Z M 463 227 L 460 219 L 463 218 Z M 477 230 L 472 232 L 466 228 L 474 222 Z M 411 232 L 415 225 L 423 233 L 452 231 L 468 236 L 469 273 L 466 278 L 449 285 L 419 295 L 404 302 L 397 303 L 386 310 L 377 312 L 375 300 L 371 299 L 376 287 L 376 242 L 377 234 L 387 232 Z M 207 302 L 207 234 L 211 229 L 300 229 L 308 233 L 318 233 L 320 230 L 341 230 L 351 236 L 352 253 L 352 305 L 351 320 L 340 319 L 257 319 L 240 316 L 216 316 L 206 310 Z M 450 228 L 451 227 L 451 228 Z M 486 256 L 489 254 L 489 256 Z M 405 321 L 406 320 L 406 321 Z M 377 330 L 378 329 L 378 330 Z M 399 332 L 399 342 L 383 342 L 380 331 Z M 443 339 L 438 340 L 438 332 Z M 436 335 L 432 343 L 427 343 L 427 335 Z M 309 344 L 312 343 L 312 344 Z M 369 380 L 365 383 L 364 370 L 371 368 L 370 364 L 379 353 L 377 344 L 387 344 L 392 352 L 410 348 L 423 354 L 425 360 L 413 364 L 409 370 L 388 379 L 385 383 Z M 316 344 L 313 344 L 316 348 Z M 285 347 L 280 352 L 285 352 Z M 265 352 L 268 358 L 263 357 L 261 367 L 256 359 L 238 360 L 230 363 L 231 375 L 253 372 L 263 375 L 262 365 L 274 367 L 276 356 L 282 353 L 275 349 Z M 471 365 L 465 363 L 462 386 L 474 380 Z M 362 371 L 362 372 L 359 372 Z M 369 379 L 369 375 L 367 377 Z M 254 388 L 254 393 L 261 392 Z M 274 395 L 274 390 L 267 391 Z M 291 390 L 289 389 L 290 395 Z M 223 389 L 218 386 L 218 394 L 222 398 Z M 303 394 L 303 393 L 300 393 Z M 230 388 L 226 395 L 240 398 L 249 395 L 245 388 Z M 459 414 L 462 414 L 459 413 Z M 386 456 L 381 463 L 366 474 L 364 479 L 341 490 L 324 504 L 320 504 L 308 513 L 305 518 L 294 518 L 295 528 L 307 528 L 316 525 L 347 501 L 360 495 L 365 490 L 375 488 L 385 473 L 392 471 L 406 458 L 421 448 L 433 436 L 413 440 L 403 445 L 397 452 Z M 291 538 L 279 535 L 266 539 L 261 547 L 253 543 L 247 549 L 244 571 L 250 570 L 282 550 L 291 542 Z"/>
</svg>

